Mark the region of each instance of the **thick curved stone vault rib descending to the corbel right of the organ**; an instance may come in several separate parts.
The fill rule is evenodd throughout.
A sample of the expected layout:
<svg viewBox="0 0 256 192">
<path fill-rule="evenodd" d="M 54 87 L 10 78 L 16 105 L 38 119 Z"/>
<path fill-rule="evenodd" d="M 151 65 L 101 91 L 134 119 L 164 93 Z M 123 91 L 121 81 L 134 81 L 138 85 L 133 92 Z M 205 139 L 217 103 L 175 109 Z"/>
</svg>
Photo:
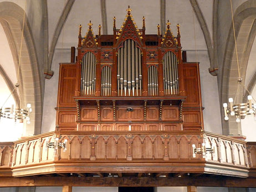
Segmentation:
<svg viewBox="0 0 256 192">
<path fill-rule="evenodd" d="M 208 50 L 209 60 L 210 60 L 210 66 L 213 68 L 213 47 L 212 47 L 212 40 L 211 36 L 206 24 L 206 20 L 203 17 L 203 13 L 201 9 L 199 8 L 197 0 L 190 0 L 191 6 L 194 10 L 194 13 L 196 14 L 198 23 L 200 24 L 200 27 L 203 32 L 204 40 L 206 41 L 206 46 Z"/>
</svg>

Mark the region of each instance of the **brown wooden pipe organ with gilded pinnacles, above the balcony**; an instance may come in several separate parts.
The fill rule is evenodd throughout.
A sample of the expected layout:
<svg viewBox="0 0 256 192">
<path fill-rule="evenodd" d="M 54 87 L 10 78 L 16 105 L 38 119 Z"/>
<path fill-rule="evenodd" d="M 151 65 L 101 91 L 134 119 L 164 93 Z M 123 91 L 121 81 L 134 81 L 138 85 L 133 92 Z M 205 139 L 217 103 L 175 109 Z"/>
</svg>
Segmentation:
<svg viewBox="0 0 256 192">
<path fill-rule="evenodd" d="M 127 9 L 113 35 L 78 37 L 74 62 L 60 64 L 57 128 L 73 131 L 201 131 L 197 63 L 184 63 L 181 35 L 145 34 Z M 73 51 L 74 53 L 74 51 Z M 73 58 L 73 59 L 72 59 Z"/>
</svg>

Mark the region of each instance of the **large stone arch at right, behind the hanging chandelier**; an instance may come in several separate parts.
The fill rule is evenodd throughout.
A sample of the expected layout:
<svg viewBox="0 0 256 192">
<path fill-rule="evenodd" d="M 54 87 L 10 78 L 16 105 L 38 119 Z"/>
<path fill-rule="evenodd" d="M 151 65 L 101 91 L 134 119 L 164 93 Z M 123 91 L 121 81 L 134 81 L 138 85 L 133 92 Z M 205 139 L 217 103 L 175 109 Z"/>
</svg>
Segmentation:
<svg viewBox="0 0 256 192">
<path fill-rule="evenodd" d="M 245 72 L 248 64 L 248 57 L 250 50 L 252 48 L 253 40 L 256 35 L 256 0 L 248 0 L 241 4 L 234 13 L 234 29 L 235 38 L 237 39 L 237 47 L 240 51 L 238 53 L 239 66 L 240 66 L 240 76 L 245 77 Z M 245 30 L 249 28 L 249 30 Z M 243 30 L 247 31 L 246 33 Z M 240 33 L 243 32 L 243 33 Z M 244 40 L 245 39 L 245 40 Z M 228 32 L 228 39 L 226 43 L 222 76 L 221 76 L 221 87 L 220 87 L 220 102 L 221 106 L 223 102 L 227 102 L 229 97 L 234 97 L 237 92 L 237 63 L 235 56 L 235 46 L 234 46 L 234 34 L 233 25 L 231 21 L 231 27 Z M 244 79 L 244 78 L 243 78 Z M 242 82 L 244 84 L 244 82 Z M 243 90 L 238 93 L 237 102 L 242 102 L 243 100 Z M 232 94 L 231 94 L 232 93 Z M 221 115 L 223 115 L 223 110 L 221 110 Z M 229 128 L 232 126 L 232 130 Z M 226 122 L 222 118 L 223 134 L 242 134 L 240 123 L 235 122 L 235 118 L 229 118 Z"/>
</svg>

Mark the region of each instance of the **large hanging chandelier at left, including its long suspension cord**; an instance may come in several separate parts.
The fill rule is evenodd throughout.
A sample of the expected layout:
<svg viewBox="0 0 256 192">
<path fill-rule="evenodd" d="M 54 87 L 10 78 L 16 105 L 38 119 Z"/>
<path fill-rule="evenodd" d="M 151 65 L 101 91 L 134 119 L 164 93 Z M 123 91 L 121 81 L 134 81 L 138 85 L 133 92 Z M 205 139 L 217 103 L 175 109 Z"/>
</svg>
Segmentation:
<svg viewBox="0 0 256 192">
<path fill-rule="evenodd" d="M 27 7 L 27 1 L 25 2 L 25 9 Z M 23 41 L 23 34 L 24 34 L 24 22 L 25 22 L 25 11 L 23 14 L 23 25 L 22 25 L 22 37 L 21 37 L 21 49 L 19 50 L 19 60 L 18 60 L 18 72 L 17 72 L 17 81 L 19 80 L 19 70 L 21 67 L 21 53 L 22 53 L 22 41 Z M 30 114 L 32 112 L 31 104 L 28 103 L 26 107 L 24 107 L 22 102 L 22 97 L 19 92 L 19 83 L 17 82 L 14 86 L 14 89 L 10 93 L 10 95 L 7 97 L 7 100 L 3 103 L 2 107 L 0 108 L 0 118 L 8 118 L 13 119 L 15 122 L 18 120 L 19 122 L 23 122 L 23 120 L 26 120 L 26 122 L 30 123 Z M 4 104 L 8 101 L 9 97 L 13 94 L 14 91 L 17 91 L 17 94 L 19 96 L 19 101 L 21 101 L 18 105 L 16 103 L 16 106 L 12 105 L 11 107 L 4 107 Z"/>
</svg>

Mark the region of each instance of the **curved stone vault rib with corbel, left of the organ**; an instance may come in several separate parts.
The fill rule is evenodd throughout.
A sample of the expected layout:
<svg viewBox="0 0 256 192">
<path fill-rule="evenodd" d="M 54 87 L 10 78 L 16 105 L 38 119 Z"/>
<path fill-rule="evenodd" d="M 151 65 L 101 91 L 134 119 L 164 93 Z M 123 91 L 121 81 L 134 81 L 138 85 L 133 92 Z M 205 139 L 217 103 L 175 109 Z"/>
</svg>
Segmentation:
<svg viewBox="0 0 256 192">
<path fill-rule="evenodd" d="M 66 2 L 66 4 L 65 4 L 65 7 L 63 8 L 62 14 L 59 17 L 58 23 L 54 30 L 52 42 L 50 43 L 47 71 L 51 71 L 51 69 L 52 69 L 52 62 L 53 62 L 55 46 L 57 45 L 59 35 L 62 32 L 64 23 L 66 22 L 66 19 L 68 18 L 68 15 L 71 11 L 71 8 L 73 7 L 74 2 L 75 2 L 75 0 L 68 0 L 68 2 Z M 52 72 L 52 74 L 48 75 L 48 79 L 50 79 L 53 75 L 53 71 L 51 71 L 51 72 Z"/>
</svg>

